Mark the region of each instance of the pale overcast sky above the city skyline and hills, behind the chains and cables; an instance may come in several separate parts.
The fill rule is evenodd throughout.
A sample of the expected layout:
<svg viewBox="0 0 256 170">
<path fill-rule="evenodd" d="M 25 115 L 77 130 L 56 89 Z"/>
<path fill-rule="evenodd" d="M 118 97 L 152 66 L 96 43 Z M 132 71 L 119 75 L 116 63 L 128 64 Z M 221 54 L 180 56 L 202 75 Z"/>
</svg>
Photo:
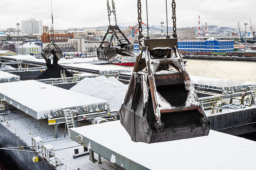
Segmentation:
<svg viewBox="0 0 256 170">
<path fill-rule="evenodd" d="M 111 0 L 109 0 L 111 1 Z M 96 27 L 108 25 L 107 0 L 52 0 L 54 29 Z M 168 3 L 168 21 L 172 25 L 171 0 Z M 142 3 L 142 22 L 146 23 L 146 0 Z M 117 23 L 137 23 L 137 0 L 115 0 Z M 256 25 L 255 0 L 176 0 L 177 27 L 200 24 L 237 28 L 237 22 Z M 148 23 L 166 22 L 165 0 L 148 0 Z M 16 28 L 19 21 L 36 18 L 50 25 L 50 0 L 1 0 L 0 30 Z M 112 19 L 113 21 L 113 19 Z M 132 25 L 131 25 L 132 26 Z"/>
</svg>

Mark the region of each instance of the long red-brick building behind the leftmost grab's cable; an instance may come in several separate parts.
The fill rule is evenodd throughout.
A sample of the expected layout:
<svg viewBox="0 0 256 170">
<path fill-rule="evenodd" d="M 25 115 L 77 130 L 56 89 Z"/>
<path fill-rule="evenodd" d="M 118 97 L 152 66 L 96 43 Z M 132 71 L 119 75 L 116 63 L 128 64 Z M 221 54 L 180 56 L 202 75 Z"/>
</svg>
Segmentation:
<svg viewBox="0 0 256 170">
<path fill-rule="evenodd" d="M 68 42 L 68 39 L 73 39 L 73 33 L 54 33 L 53 40 L 55 42 Z M 49 32 L 43 32 L 41 35 L 41 42 L 42 43 L 50 43 L 51 36 Z"/>
</svg>

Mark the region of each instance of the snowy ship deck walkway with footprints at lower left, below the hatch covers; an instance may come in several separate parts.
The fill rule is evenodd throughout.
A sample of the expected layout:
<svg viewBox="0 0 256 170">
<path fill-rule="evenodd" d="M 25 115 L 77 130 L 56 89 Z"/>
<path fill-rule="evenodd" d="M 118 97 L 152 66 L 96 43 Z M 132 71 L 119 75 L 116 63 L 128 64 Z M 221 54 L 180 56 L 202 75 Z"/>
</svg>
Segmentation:
<svg viewBox="0 0 256 170">
<path fill-rule="evenodd" d="M 65 165 L 69 168 L 74 169 L 79 167 L 81 170 L 123 170 L 120 166 L 110 162 L 108 159 L 102 158 L 102 164 L 95 163 L 93 164 L 89 160 L 89 155 L 73 159 L 74 148 L 78 148 L 79 153 L 83 151 L 83 146 L 79 145 L 75 141 L 69 138 L 54 140 L 54 126 L 48 125 L 47 119 L 36 120 L 33 117 L 28 117 L 28 115 L 20 110 L 15 110 L 15 113 L 12 114 L 11 120 L 9 120 L 19 131 L 22 131 L 28 138 L 31 137 L 41 137 L 43 139 L 44 145 L 51 144 L 55 150 L 63 149 L 67 147 L 72 147 L 68 149 L 63 149 L 55 151 L 55 156 L 61 159 Z M 4 126 L 6 122 L 0 122 Z M 78 122 L 78 126 L 84 126 L 91 124 L 90 120 L 83 120 Z M 59 138 L 64 138 L 65 124 L 60 124 L 58 126 Z M 68 131 L 66 131 L 66 137 L 68 136 Z M 47 142 L 54 140 L 52 142 Z M 31 142 L 31 139 L 29 140 Z M 29 143 L 30 144 L 30 143 Z M 78 146 L 78 147 L 77 147 Z M 15 151 L 14 151 L 15 152 Z M 94 157 L 98 160 L 98 155 L 95 153 Z M 65 167 L 62 166 L 62 170 Z M 58 169 L 58 168 L 57 168 Z M 68 168 L 67 168 L 68 169 Z"/>
</svg>

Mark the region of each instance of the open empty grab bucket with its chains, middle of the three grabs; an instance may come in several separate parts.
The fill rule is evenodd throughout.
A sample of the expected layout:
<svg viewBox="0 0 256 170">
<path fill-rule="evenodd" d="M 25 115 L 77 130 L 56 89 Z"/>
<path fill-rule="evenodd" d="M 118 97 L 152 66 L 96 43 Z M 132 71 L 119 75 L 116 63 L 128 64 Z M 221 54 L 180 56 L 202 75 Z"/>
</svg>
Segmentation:
<svg viewBox="0 0 256 170">
<path fill-rule="evenodd" d="M 134 56 L 134 46 L 133 44 L 125 37 L 124 33 L 119 29 L 116 22 L 116 7 L 115 2 L 112 0 L 112 10 L 109 6 L 109 1 L 107 0 L 107 9 L 108 9 L 108 31 L 102 39 L 100 46 L 97 48 L 97 56 L 101 61 L 110 61 L 117 54 L 123 56 Z M 112 26 L 110 22 L 110 16 L 113 13 L 115 16 L 115 25 Z M 109 41 L 106 41 L 107 35 L 111 34 Z M 115 38 L 117 39 L 117 45 Z M 108 46 L 103 46 L 104 43 L 108 43 Z"/>
</svg>

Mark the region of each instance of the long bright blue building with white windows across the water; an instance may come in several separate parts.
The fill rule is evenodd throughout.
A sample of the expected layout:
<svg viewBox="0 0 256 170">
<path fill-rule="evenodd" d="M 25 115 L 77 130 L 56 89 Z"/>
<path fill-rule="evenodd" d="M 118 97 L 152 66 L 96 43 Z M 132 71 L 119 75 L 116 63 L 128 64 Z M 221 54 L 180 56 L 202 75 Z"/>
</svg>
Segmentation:
<svg viewBox="0 0 256 170">
<path fill-rule="evenodd" d="M 180 51 L 232 52 L 234 41 L 214 38 L 206 41 L 178 41 L 178 49 Z"/>
</svg>

